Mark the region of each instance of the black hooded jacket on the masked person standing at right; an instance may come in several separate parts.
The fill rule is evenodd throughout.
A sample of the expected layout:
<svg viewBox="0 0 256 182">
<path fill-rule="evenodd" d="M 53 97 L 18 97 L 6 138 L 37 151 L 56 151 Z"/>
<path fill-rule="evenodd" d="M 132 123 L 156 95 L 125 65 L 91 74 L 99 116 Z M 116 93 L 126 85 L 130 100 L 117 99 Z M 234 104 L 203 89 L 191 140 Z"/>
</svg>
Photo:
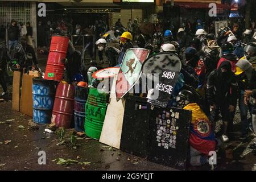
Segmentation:
<svg viewBox="0 0 256 182">
<path fill-rule="evenodd" d="M 227 72 L 221 72 L 221 68 Z M 210 105 L 224 104 L 236 106 L 238 84 L 231 70 L 230 61 L 223 61 L 217 69 L 214 69 L 207 80 L 207 99 Z"/>
</svg>

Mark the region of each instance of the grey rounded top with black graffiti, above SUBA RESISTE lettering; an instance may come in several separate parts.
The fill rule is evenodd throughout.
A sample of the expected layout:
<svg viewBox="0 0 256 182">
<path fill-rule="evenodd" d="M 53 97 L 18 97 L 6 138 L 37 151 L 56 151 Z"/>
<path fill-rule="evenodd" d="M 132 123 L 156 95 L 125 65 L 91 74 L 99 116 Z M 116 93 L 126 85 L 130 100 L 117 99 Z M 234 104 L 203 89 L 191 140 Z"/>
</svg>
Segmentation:
<svg viewBox="0 0 256 182">
<path fill-rule="evenodd" d="M 173 53 L 157 53 L 148 58 L 142 65 L 142 73 L 162 73 L 163 69 L 172 72 L 180 72 L 181 61 L 179 57 Z"/>
</svg>

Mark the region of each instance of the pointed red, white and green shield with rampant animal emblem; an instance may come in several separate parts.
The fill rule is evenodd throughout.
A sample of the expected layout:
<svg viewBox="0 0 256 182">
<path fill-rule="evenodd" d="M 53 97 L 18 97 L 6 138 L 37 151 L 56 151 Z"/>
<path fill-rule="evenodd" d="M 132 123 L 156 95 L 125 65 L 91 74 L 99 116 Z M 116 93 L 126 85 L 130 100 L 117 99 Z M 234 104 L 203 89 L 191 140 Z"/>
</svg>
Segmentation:
<svg viewBox="0 0 256 182">
<path fill-rule="evenodd" d="M 125 56 L 123 56 L 115 85 L 117 101 L 125 96 L 138 81 L 141 76 L 142 64 L 147 59 L 149 53 L 150 51 L 148 49 L 143 48 L 127 49 Z"/>
</svg>

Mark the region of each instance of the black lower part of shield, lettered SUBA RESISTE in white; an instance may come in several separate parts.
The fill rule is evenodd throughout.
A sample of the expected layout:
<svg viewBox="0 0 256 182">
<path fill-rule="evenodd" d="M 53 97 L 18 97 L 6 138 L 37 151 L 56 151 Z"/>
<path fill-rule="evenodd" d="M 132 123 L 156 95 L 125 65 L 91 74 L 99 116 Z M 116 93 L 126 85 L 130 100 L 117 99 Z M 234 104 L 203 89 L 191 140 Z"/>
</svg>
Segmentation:
<svg viewBox="0 0 256 182">
<path fill-rule="evenodd" d="M 159 82 L 155 85 L 154 95 L 148 98 L 148 102 L 152 105 L 166 107 L 172 92 L 174 92 L 179 74 L 180 72 L 172 72 L 163 69 L 163 72 L 159 75 Z"/>
</svg>

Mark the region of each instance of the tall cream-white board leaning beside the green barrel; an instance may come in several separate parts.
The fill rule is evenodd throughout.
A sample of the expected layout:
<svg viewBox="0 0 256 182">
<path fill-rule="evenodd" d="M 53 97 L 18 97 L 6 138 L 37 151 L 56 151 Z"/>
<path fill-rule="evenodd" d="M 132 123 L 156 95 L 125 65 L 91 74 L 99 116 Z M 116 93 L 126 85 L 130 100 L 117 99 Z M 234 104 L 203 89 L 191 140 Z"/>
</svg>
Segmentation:
<svg viewBox="0 0 256 182">
<path fill-rule="evenodd" d="M 106 110 L 106 117 L 101 131 L 100 142 L 119 149 L 123 126 L 123 114 L 125 112 L 125 100 L 121 99 L 117 101 L 116 99 L 114 91 L 116 80 L 117 75 L 115 75 L 112 84 L 110 104 Z"/>
</svg>

